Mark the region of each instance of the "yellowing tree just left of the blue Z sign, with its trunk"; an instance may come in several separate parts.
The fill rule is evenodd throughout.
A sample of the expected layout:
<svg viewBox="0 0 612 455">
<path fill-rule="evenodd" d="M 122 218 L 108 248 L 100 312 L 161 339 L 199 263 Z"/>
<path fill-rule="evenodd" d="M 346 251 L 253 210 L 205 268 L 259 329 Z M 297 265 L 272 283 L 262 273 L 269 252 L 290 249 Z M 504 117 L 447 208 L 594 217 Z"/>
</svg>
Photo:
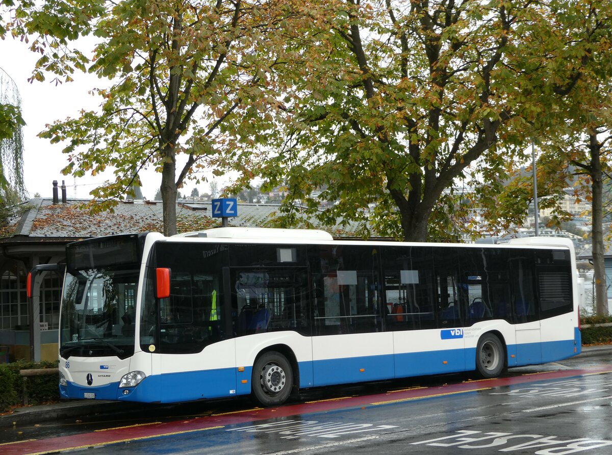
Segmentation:
<svg viewBox="0 0 612 455">
<path fill-rule="evenodd" d="M 100 110 L 40 134 L 65 143 L 63 172 L 95 176 L 113 167 L 114 181 L 91 192 L 103 210 L 135 196 L 141 170 L 159 171 L 166 235 L 176 233 L 174 201 L 185 180 L 199 182 L 198 171 L 236 148 L 240 135 L 269 127 L 261 117 L 279 104 L 280 82 L 270 73 L 287 61 L 283 28 L 293 13 L 285 2 L 67 0 L 15 9 L 21 13 L 13 33 L 34 34 L 37 46 L 48 33 L 61 49 L 43 52 L 35 78 L 53 72 L 67 80 L 78 69 L 108 83 L 94 91 Z M 91 60 L 67 47 L 90 32 L 97 38 Z M 250 141 L 240 148 L 252 148 Z"/>
</svg>

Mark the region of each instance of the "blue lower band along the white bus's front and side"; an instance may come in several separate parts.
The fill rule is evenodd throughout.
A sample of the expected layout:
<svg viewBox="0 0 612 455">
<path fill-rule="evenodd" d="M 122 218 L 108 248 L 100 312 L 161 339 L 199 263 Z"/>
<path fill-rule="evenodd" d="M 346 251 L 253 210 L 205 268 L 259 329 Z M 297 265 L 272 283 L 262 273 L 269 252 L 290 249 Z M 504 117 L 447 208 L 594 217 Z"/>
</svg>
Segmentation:
<svg viewBox="0 0 612 455">
<path fill-rule="evenodd" d="M 521 366 L 569 358 L 580 353 L 580 337 L 576 329 L 573 340 L 508 345 L 508 364 Z M 534 352 L 545 355 L 534 360 Z M 476 369 L 476 348 L 300 362 L 299 369 L 301 388 L 444 374 Z M 95 393 L 96 399 L 103 400 L 168 403 L 249 394 L 251 378 L 252 367 L 245 367 L 244 372 L 226 368 L 152 375 L 127 389 L 119 389 L 118 382 L 99 387 L 69 382 L 67 386 L 60 386 L 60 392 L 62 397 L 71 399 L 83 399 L 84 393 Z M 124 390 L 128 393 L 124 394 Z"/>
</svg>

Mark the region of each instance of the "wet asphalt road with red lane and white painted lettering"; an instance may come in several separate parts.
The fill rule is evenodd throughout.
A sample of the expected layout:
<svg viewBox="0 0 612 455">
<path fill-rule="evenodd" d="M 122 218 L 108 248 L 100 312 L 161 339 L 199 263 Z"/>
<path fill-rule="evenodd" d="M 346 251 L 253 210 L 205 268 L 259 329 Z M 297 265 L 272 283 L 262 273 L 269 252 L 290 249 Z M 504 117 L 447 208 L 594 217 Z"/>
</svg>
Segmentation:
<svg viewBox="0 0 612 455">
<path fill-rule="evenodd" d="M 83 416 L 2 429 L 0 453 L 612 454 L 609 354 L 470 379 L 319 389 L 266 410 L 241 399 Z"/>
</svg>

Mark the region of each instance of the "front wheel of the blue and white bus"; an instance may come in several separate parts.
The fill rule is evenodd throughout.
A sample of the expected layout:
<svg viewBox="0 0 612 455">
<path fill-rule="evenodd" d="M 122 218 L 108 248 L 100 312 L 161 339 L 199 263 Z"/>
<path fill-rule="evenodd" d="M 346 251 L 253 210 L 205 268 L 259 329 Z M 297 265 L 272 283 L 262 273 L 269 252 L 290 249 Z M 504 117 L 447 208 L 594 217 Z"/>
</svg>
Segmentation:
<svg viewBox="0 0 612 455">
<path fill-rule="evenodd" d="M 263 406 L 280 406 L 293 389 L 293 370 L 287 358 L 270 351 L 259 356 L 253 365 L 253 397 Z"/>
</svg>

